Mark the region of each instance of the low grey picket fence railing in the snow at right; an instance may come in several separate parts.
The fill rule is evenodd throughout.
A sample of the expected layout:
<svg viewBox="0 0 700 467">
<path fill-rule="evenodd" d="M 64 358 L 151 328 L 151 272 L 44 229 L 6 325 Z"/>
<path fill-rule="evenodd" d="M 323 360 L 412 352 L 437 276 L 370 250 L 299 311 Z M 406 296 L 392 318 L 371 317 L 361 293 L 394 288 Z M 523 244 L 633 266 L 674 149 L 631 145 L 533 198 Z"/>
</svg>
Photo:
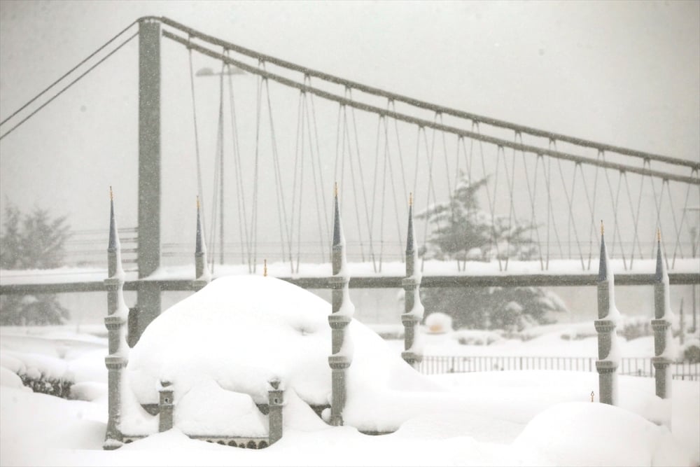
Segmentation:
<svg viewBox="0 0 700 467">
<path fill-rule="evenodd" d="M 466 373 L 476 371 L 563 370 L 595 371 L 593 357 L 553 356 L 423 356 L 420 370 L 424 375 Z M 617 368 L 618 375 L 654 376 L 651 358 L 624 357 Z M 671 363 L 673 379 L 700 381 L 700 363 Z"/>
</svg>

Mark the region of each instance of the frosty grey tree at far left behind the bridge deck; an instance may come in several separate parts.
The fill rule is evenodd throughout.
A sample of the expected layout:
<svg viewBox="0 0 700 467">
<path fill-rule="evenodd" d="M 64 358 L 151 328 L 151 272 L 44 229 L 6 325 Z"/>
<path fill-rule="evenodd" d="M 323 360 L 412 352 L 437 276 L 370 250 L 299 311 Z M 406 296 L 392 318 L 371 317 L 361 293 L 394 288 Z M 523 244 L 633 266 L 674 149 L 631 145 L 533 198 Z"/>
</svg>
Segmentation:
<svg viewBox="0 0 700 467">
<path fill-rule="evenodd" d="M 5 270 L 59 267 L 69 236 L 65 216 L 51 218 L 48 211 L 22 213 L 8 204 L 0 235 L 0 268 Z M 61 324 L 69 318 L 57 295 L 0 295 L 0 325 Z"/>
</svg>

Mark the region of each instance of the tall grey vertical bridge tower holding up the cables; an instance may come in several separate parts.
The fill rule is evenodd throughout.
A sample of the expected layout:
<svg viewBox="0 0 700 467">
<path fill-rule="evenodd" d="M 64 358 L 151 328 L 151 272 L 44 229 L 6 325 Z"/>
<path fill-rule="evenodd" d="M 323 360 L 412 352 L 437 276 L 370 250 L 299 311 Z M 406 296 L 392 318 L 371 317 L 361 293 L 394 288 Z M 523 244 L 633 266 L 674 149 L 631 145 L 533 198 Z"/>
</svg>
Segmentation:
<svg viewBox="0 0 700 467">
<path fill-rule="evenodd" d="M 160 267 L 160 21 L 139 22 L 139 279 Z M 160 314 L 160 286 L 137 288 L 137 339 Z M 135 342 L 135 340 L 134 340 Z"/>
</svg>

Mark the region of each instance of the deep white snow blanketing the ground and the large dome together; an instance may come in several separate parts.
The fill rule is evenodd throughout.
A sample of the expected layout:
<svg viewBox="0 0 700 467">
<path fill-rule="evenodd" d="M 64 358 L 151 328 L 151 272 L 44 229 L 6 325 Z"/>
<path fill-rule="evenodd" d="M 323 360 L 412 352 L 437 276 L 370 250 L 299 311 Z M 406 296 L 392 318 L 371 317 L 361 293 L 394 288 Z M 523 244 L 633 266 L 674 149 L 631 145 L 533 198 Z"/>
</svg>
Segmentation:
<svg viewBox="0 0 700 467">
<path fill-rule="evenodd" d="M 498 371 L 428 377 L 400 359 L 402 342 L 381 340 L 357 321 L 349 327 L 355 353 L 346 405 L 348 426 L 330 427 L 307 405 L 328 400 L 329 312 L 327 302 L 272 277 L 218 279 L 167 310 L 132 349 L 127 373 L 131 373 L 129 384 L 136 398 L 147 402 L 157 394 L 158 379 L 174 380 L 179 391 L 176 427 L 111 452 L 102 450 L 106 339 L 67 328 L 3 328 L 0 463 L 700 463 L 700 382 L 674 380 L 669 408 L 668 401 L 654 396 L 653 379 L 620 376 L 619 407 L 611 407 L 590 402 L 591 391 L 598 392 L 594 372 Z M 501 339 L 489 346 L 458 344 L 459 333 L 454 332 L 424 337 L 428 354 L 460 350 L 467 355 L 595 357 L 595 337 L 561 338 L 589 328 L 592 323 L 543 327 L 532 340 Z M 643 344 L 621 340 L 620 347 L 623 356 L 652 355 L 649 339 L 643 339 Z M 68 377 L 76 382 L 76 400 L 32 393 L 18 384 L 18 372 Z M 264 432 L 265 416 L 255 412 L 253 401 L 265 397 L 265 382 L 272 375 L 287 383 L 284 434 L 272 447 L 260 451 L 223 447 L 183 434 L 233 428 Z M 188 391 L 182 391 L 185 388 Z M 668 410 L 672 411 L 670 429 L 660 424 Z M 363 435 L 358 426 L 396 431 Z"/>
</svg>

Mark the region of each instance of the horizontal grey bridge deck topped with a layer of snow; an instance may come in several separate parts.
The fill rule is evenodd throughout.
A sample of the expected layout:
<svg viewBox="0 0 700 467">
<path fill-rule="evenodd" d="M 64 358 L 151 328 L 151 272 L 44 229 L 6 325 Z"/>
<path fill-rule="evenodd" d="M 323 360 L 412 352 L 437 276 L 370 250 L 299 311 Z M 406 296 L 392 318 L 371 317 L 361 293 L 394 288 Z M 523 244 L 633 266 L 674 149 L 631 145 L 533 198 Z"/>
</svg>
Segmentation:
<svg viewBox="0 0 700 467">
<path fill-rule="evenodd" d="M 654 283 L 655 260 L 611 261 L 615 284 L 620 286 L 650 285 Z M 507 271 L 499 270 L 497 262 L 468 262 L 465 270 L 458 271 L 456 262 L 426 261 L 423 267 L 422 287 L 489 287 L 489 286 L 594 286 L 598 279 L 598 260 L 591 269 L 584 270 L 580 260 L 551 260 L 547 270 L 539 261 L 511 261 Z M 675 260 L 668 272 L 672 285 L 700 284 L 700 260 Z M 375 272 L 375 266 L 377 272 Z M 584 265 L 587 266 L 587 265 Z M 500 265 L 505 267 L 505 262 Z M 349 263 L 351 288 L 400 288 L 405 277 L 405 266 L 400 262 L 379 264 Z M 258 265 L 255 274 L 262 274 Z M 214 278 L 231 274 L 249 274 L 247 265 L 215 265 Z M 268 274 L 303 288 L 330 288 L 330 264 L 301 264 L 298 273 L 292 273 L 289 263 L 273 263 Z M 0 270 L 0 294 L 66 293 L 105 291 L 103 280 L 106 269 L 69 268 L 56 270 Z M 189 291 L 194 276 L 192 265 L 160 267 L 145 279 L 138 279 L 136 271 L 127 272 L 125 291 L 137 290 L 140 281 L 156 282 L 162 291 Z"/>
</svg>

